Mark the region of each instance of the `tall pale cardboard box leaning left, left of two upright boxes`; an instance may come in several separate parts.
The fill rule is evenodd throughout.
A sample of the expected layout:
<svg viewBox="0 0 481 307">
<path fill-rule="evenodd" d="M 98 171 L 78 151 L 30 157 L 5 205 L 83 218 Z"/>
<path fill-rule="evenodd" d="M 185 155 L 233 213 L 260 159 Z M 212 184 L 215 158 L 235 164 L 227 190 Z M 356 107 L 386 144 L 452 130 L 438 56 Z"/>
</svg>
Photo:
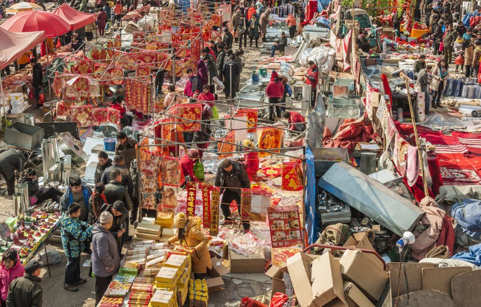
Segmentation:
<svg viewBox="0 0 481 307">
<path fill-rule="evenodd" d="M 311 262 L 312 258 L 303 252 L 298 252 L 287 260 L 290 280 L 300 307 L 308 307 L 312 302 Z M 320 276 L 324 276 L 324 273 Z"/>
</svg>

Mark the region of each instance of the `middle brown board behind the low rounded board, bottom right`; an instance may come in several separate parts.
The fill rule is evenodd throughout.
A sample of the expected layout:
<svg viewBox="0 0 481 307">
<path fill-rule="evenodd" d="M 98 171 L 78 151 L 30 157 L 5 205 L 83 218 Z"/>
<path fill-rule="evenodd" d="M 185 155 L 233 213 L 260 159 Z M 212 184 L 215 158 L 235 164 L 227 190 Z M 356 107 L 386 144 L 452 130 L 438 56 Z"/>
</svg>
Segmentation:
<svg viewBox="0 0 481 307">
<path fill-rule="evenodd" d="M 451 280 L 458 274 L 469 272 L 469 266 L 448 267 L 448 268 L 423 268 L 422 288 L 423 290 L 439 290 L 451 295 Z"/>
</svg>

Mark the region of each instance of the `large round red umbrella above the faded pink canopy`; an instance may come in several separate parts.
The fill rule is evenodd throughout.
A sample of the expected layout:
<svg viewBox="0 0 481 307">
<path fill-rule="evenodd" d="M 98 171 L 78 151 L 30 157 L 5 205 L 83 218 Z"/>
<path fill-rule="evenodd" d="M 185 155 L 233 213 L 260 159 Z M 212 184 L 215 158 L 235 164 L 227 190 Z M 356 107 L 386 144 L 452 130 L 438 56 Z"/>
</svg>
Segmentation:
<svg viewBox="0 0 481 307">
<path fill-rule="evenodd" d="M 0 27 L 10 32 L 45 31 L 45 38 L 60 36 L 70 30 L 70 24 L 67 21 L 47 11 L 18 13 Z"/>
</svg>

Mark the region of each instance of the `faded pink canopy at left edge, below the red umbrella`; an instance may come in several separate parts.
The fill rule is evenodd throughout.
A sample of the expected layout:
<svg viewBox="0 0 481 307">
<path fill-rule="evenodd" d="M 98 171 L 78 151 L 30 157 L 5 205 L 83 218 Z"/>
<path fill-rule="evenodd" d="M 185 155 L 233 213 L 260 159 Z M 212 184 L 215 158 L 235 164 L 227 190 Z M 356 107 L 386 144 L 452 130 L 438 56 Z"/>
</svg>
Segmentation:
<svg viewBox="0 0 481 307">
<path fill-rule="evenodd" d="M 44 39 L 44 31 L 13 33 L 0 28 L 0 69 L 4 69 Z"/>
</svg>

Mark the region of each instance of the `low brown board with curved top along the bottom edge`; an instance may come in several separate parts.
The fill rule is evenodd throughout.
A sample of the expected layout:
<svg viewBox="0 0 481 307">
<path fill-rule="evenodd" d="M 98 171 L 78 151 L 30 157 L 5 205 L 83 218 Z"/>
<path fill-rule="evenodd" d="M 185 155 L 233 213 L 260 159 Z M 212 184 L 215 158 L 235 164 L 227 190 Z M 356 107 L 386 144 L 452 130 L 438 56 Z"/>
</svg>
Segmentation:
<svg viewBox="0 0 481 307">
<path fill-rule="evenodd" d="M 395 306 L 396 298 L 392 299 L 392 306 Z M 459 307 L 454 304 L 453 300 L 444 292 L 437 290 L 421 290 L 401 295 L 397 300 L 397 307 Z"/>
</svg>

